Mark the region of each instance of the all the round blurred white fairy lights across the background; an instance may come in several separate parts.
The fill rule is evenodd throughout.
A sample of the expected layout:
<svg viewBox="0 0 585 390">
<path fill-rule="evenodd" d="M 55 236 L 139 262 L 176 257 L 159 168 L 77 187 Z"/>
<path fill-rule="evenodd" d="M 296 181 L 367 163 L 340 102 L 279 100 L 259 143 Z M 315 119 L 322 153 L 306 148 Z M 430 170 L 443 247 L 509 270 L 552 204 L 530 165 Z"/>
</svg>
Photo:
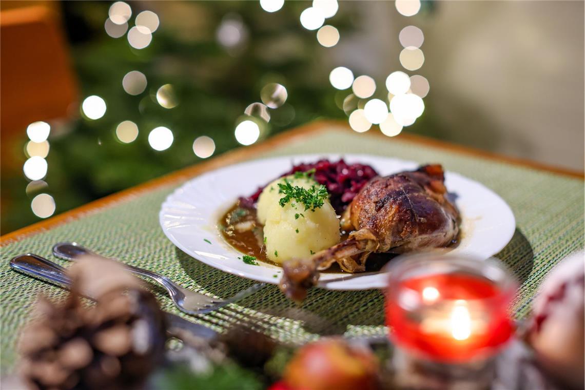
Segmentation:
<svg viewBox="0 0 585 390">
<path fill-rule="evenodd" d="M 264 11 L 273 13 L 283 7 L 284 0 L 260 0 L 259 3 Z M 418 0 L 397 0 L 395 7 L 401 15 L 408 17 L 419 12 L 421 3 Z M 299 20 L 302 27 L 316 32 L 316 39 L 321 46 L 335 47 L 339 43 L 340 33 L 335 26 L 327 23 L 338 10 L 337 0 L 314 0 L 310 7 L 300 13 Z M 126 37 L 132 49 L 142 50 L 152 43 L 153 34 L 160 26 L 159 16 L 152 11 L 139 12 L 132 26 L 132 15 L 129 4 L 123 1 L 114 2 L 109 8 L 104 29 L 113 39 Z M 235 51 L 245 43 L 247 34 L 242 20 L 234 15 L 226 15 L 216 30 L 216 39 L 226 50 Z M 403 127 L 412 125 L 424 111 L 422 98 L 428 94 L 428 81 L 422 75 L 406 73 L 417 71 L 424 63 L 421 50 L 424 34 L 416 26 L 407 26 L 401 30 L 398 38 L 403 47 L 399 59 L 405 71 L 397 70 L 388 75 L 384 98 L 380 96 L 380 92 L 376 94 L 376 81 L 369 75 L 355 77 L 353 71 L 344 66 L 335 67 L 329 73 L 332 87 L 347 92 L 343 99 L 343 111 L 348 116 L 350 127 L 356 132 L 366 132 L 372 125 L 378 125 L 382 133 L 395 136 Z M 149 83 L 145 74 L 132 70 L 123 76 L 121 84 L 123 91 L 137 96 L 146 91 Z M 153 100 L 162 108 L 173 109 L 180 103 L 173 85 L 164 84 L 155 90 Z M 270 120 L 277 123 L 277 120 L 282 119 L 277 115 L 277 109 L 280 108 L 280 116 L 287 111 L 288 116 L 294 117 L 294 109 L 290 104 L 285 104 L 288 98 L 287 88 L 280 82 L 267 82 L 261 88 L 259 97 L 260 101 L 248 105 L 244 115 L 236 120 L 233 134 L 236 141 L 244 146 L 259 140 Z M 80 112 L 82 118 L 92 121 L 104 117 L 107 109 L 104 98 L 91 95 L 82 100 Z M 47 174 L 46 157 L 49 154 L 50 130 L 51 126 L 46 122 L 31 123 L 27 128 L 30 141 L 25 147 L 28 159 L 23 166 L 24 174 L 30 180 L 27 193 L 38 193 L 48 187 L 44 178 Z M 114 134 L 121 143 L 128 144 L 138 138 L 140 131 L 135 122 L 122 120 L 115 126 Z M 153 150 L 164 151 L 173 144 L 173 130 L 169 127 L 157 126 L 148 131 L 147 141 Z M 209 135 L 199 135 L 192 143 L 193 153 L 199 158 L 211 157 L 215 153 L 215 147 L 215 141 Z M 53 197 L 43 192 L 32 199 L 31 208 L 39 218 L 47 218 L 53 215 L 56 207 Z"/>
</svg>

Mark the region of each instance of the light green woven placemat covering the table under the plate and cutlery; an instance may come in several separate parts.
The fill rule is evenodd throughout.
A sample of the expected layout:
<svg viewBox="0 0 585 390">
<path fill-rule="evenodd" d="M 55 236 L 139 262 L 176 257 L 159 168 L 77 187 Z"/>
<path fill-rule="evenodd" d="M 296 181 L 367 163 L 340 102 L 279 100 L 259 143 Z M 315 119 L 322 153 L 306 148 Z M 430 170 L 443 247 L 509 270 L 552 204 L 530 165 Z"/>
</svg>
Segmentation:
<svg viewBox="0 0 585 390">
<path fill-rule="evenodd" d="M 497 257 L 522 282 L 514 302 L 519 319 L 546 273 L 567 254 L 583 248 L 583 181 L 530 168 L 452 153 L 400 139 L 381 139 L 332 128 L 311 139 L 292 142 L 258 157 L 298 153 L 369 153 L 421 163 L 439 162 L 446 169 L 482 182 L 511 206 L 517 230 Z M 160 272 L 187 288 L 230 296 L 253 282 L 199 263 L 177 250 L 159 227 L 160 204 L 176 186 L 158 188 L 110 206 L 90 216 L 8 244 L 2 248 L 1 368 L 16 359 L 16 339 L 30 318 L 39 293 L 63 299 L 63 290 L 11 271 L 8 262 L 32 252 L 48 258 L 57 241 L 78 241 L 105 256 Z M 55 260 L 53 258 L 53 260 Z M 66 261 L 55 260 L 67 266 Z M 153 287 L 163 308 L 179 313 L 159 288 Z M 252 319 L 264 332 L 280 340 L 304 342 L 321 334 L 383 334 L 383 296 L 380 291 L 339 292 L 312 289 L 301 307 L 287 301 L 275 286 L 215 313 L 188 317 L 215 330 Z"/>
</svg>

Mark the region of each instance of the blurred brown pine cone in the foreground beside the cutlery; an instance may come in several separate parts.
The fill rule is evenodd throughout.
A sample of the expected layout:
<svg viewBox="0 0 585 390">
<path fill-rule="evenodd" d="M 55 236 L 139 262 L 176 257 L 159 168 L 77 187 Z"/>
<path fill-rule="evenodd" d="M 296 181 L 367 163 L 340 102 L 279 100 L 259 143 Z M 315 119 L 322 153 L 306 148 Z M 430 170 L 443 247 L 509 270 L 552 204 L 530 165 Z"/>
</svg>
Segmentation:
<svg viewBox="0 0 585 390">
<path fill-rule="evenodd" d="M 95 264 L 88 268 L 95 271 Z M 106 273 L 112 269 L 126 273 L 118 264 L 102 267 Z M 154 296 L 137 284 L 126 291 L 128 279 L 119 285 L 113 276 L 97 305 L 87 308 L 77 292 L 92 288 L 84 285 L 85 271 L 74 278 L 63 305 L 43 298 L 43 320 L 22 334 L 21 372 L 30 388 L 136 389 L 164 356 L 166 326 Z M 93 276 L 85 280 L 104 280 L 102 274 Z"/>
</svg>

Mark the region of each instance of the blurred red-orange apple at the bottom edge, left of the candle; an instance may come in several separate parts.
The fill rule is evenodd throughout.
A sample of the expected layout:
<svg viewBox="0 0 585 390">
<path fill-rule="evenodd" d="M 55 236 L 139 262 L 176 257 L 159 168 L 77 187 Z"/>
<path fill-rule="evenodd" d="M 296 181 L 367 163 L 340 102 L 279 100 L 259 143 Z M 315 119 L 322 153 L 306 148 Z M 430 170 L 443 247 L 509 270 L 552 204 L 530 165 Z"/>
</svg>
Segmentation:
<svg viewBox="0 0 585 390">
<path fill-rule="evenodd" d="M 378 361 L 369 348 L 328 338 L 301 347 L 283 382 L 291 390 L 374 390 L 377 374 Z"/>
</svg>

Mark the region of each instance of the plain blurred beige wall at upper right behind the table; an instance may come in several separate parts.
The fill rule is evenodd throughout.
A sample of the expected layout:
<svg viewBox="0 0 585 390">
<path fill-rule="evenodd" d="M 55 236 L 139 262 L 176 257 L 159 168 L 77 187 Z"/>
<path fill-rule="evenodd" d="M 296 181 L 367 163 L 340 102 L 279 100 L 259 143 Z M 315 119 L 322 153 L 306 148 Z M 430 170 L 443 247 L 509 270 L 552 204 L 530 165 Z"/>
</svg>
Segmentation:
<svg viewBox="0 0 585 390">
<path fill-rule="evenodd" d="M 324 68 L 345 64 L 384 88 L 403 70 L 398 33 L 418 26 L 425 63 L 407 73 L 429 80 L 433 136 L 583 170 L 584 2 L 436 1 L 410 18 L 394 2 L 340 2 L 349 8 L 356 30 Z"/>
</svg>

